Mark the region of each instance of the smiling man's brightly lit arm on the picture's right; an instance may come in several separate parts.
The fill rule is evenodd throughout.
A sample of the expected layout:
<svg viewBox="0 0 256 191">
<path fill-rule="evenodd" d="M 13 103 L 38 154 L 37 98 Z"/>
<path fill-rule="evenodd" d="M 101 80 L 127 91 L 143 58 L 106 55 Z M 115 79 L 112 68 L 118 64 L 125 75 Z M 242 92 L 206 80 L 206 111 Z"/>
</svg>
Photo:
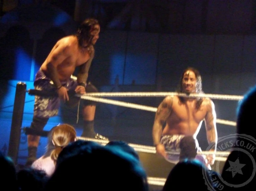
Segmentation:
<svg viewBox="0 0 256 191">
<path fill-rule="evenodd" d="M 206 135 L 207 135 L 207 140 L 208 143 L 211 145 L 210 150 L 216 151 L 217 149 L 217 128 L 216 128 L 216 112 L 215 112 L 215 107 L 214 103 L 212 100 L 206 100 L 208 103 L 206 104 L 207 106 L 207 112 L 205 115 L 205 128 L 206 128 Z M 215 155 L 208 155 L 208 163 L 213 164 L 214 163 L 214 158 Z"/>
</svg>

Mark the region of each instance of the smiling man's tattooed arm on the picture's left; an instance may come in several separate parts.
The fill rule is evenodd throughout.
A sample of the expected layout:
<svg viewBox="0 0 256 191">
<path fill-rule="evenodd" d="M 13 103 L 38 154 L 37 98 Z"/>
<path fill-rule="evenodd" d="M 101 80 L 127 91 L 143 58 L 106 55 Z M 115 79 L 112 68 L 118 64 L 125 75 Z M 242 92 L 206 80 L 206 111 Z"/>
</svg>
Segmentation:
<svg viewBox="0 0 256 191">
<path fill-rule="evenodd" d="M 171 108 L 173 105 L 173 97 L 166 97 L 158 106 L 155 121 L 153 125 L 153 143 L 156 146 L 157 153 L 166 156 L 164 145 L 160 144 L 160 139 L 162 135 L 162 126 L 168 119 Z"/>
</svg>

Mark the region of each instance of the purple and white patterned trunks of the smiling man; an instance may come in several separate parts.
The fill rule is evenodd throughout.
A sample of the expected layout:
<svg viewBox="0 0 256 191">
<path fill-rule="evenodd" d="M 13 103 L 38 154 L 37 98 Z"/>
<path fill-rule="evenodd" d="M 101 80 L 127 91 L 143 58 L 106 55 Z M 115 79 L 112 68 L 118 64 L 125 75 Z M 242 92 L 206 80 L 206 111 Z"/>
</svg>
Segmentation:
<svg viewBox="0 0 256 191">
<path fill-rule="evenodd" d="M 179 152 L 180 152 L 180 141 L 182 140 L 182 138 L 185 137 L 185 135 L 180 135 L 180 134 L 174 134 L 174 135 L 163 135 L 161 137 L 161 144 L 163 144 L 165 146 L 165 150 L 168 152 L 177 152 L 177 154 L 172 154 L 172 153 L 167 153 L 167 161 L 177 164 L 179 162 Z M 199 151 L 202 151 L 201 148 L 199 147 L 199 143 L 196 139 L 196 145 L 199 148 Z M 197 160 L 199 160 L 200 162 L 203 162 L 204 157 L 202 157 L 202 155 L 196 155 Z"/>
</svg>

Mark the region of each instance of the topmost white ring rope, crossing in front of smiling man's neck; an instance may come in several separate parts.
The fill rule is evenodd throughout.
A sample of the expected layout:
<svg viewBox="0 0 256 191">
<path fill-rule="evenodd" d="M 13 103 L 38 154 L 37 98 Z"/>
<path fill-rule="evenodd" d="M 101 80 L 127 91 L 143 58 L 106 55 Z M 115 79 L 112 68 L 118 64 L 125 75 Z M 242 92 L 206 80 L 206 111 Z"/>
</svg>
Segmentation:
<svg viewBox="0 0 256 191">
<path fill-rule="evenodd" d="M 224 94 L 205 94 L 205 93 L 178 93 L 178 92 L 101 92 L 101 93 L 86 93 L 88 96 L 95 97 L 166 97 L 166 96 L 181 96 L 186 98 L 211 98 L 221 100 L 241 100 L 244 96 L 224 95 Z"/>
</svg>

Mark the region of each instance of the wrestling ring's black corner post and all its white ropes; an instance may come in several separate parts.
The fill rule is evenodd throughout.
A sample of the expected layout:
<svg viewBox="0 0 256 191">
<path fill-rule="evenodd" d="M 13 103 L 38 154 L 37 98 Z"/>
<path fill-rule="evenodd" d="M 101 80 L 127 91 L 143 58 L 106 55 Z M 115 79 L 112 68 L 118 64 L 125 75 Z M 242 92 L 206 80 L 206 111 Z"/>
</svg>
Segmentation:
<svg viewBox="0 0 256 191">
<path fill-rule="evenodd" d="M 26 90 L 26 84 L 23 82 L 18 82 L 16 86 L 16 95 L 15 95 L 15 102 L 14 102 L 14 111 L 12 116 L 12 124 L 11 124 L 11 133 L 10 133 L 10 142 L 9 142 L 9 150 L 8 155 L 14 159 L 14 162 L 17 162 L 18 157 L 18 149 L 19 149 L 19 140 L 21 134 L 21 124 L 23 120 L 23 110 L 24 110 L 24 103 L 25 103 L 25 95 L 28 93 L 29 95 L 44 95 L 44 96 L 56 96 L 56 93 L 44 92 L 39 90 L 29 89 Z M 102 93 L 86 93 L 86 94 L 75 94 L 77 97 L 81 97 L 81 99 L 96 101 L 106 104 L 113 104 L 118 105 L 120 107 L 127 107 L 145 111 L 156 112 L 157 108 L 149 107 L 146 105 L 139 105 L 134 103 L 128 103 L 123 101 L 116 101 L 111 99 L 105 99 L 102 97 L 166 97 L 166 96 L 182 96 L 182 97 L 203 97 L 203 98 L 210 98 L 210 99 L 220 99 L 220 100 L 241 100 L 243 96 L 232 96 L 232 95 L 220 95 L 220 94 L 185 94 L 185 93 L 177 93 L 177 92 L 102 92 Z M 58 95 L 57 95 L 58 96 Z M 236 127 L 235 121 L 228 121 L 223 119 L 217 119 L 216 123 L 230 125 Z M 29 129 L 29 128 L 28 128 Z M 27 130 L 28 130 L 27 129 Z M 30 132 L 28 132 L 30 134 Z M 32 133 L 31 133 L 32 134 Z M 40 133 L 41 136 L 47 135 L 46 131 Z M 46 137 L 46 136 L 45 136 Z M 100 139 L 91 139 L 85 137 L 77 137 L 80 140 L 87 140 L 87 141 L 95 141 L 101 145 L 105 145 L 108 143 L 108 140 L 100 140 Z M 143 153 L 151 153 L 156 154 L 155 147 L 147 146 L 147 145 L 139 145 L 139 144 L 132 144 L 128 143 L 131 147 L 134 148 L 137 152 Z M 174 152 L 168 152 L 174 153 Z M 174 154 L 177 154 L 175 152 Z M 201 151 L 198 154 L 215 154 L 216 158 L 215 161 L 226 161 L 227 156 L 230 152 L 225 151 Z M 149 184 L 152 185 L 159 185 L 163 186 L 166 181 L 166 178 L 156 178 L 156 177 L 148 177 Z"/>
</svg>

